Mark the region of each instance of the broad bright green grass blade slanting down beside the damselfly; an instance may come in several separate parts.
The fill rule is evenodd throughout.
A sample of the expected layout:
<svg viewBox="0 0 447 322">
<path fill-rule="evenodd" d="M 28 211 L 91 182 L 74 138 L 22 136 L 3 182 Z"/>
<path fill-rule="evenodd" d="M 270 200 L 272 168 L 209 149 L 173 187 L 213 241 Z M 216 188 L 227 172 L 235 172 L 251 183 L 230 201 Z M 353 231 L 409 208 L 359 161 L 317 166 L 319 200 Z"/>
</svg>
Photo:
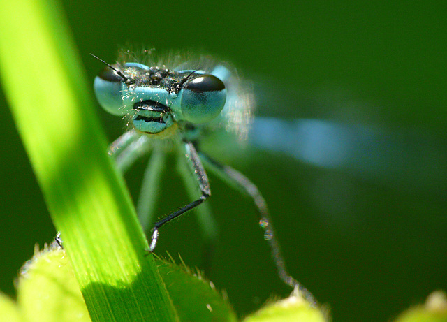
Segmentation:
<svg viewBox="0 0 447 322">
<path fill-rule="evenodd" d="M 1 81 L 93 321 L 175 321 L 54 0 L 3 1 Z M 37 214 L 36 214 L 37 215 Z"/>
</svg>

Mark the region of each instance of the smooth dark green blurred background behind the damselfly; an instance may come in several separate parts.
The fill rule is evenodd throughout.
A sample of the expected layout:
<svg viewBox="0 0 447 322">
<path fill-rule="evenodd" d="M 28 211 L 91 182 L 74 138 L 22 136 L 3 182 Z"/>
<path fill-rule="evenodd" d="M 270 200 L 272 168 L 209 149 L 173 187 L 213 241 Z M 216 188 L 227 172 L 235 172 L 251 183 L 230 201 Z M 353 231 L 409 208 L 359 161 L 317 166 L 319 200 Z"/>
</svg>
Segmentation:
<svg viewBox="0 0 447 322">
<path fill-rule="evenodd" d="M 418 166 L 399 180 L 383 180 L 377 178 L 386 174 L 320 168 L 252 149 L 220 159 L 258 185 L 291 273 L 330 305 L 333 321 L 388 321 L 430 292 L 447 289 L 445 1 L 80 0 L 63 6 L 91 82 L 103 65 L 90 52 L 113 62 L 129 44 L 159 52 L 192 49 L 231 61 L 252 78 L 261 115 L 386 129 L 390 142 L 405 146 L 392 166 L 402 161 L 405 168 L 408 149 L 430 150 L 417 159 L 420 168 L 429 166 L 430 180 Z M 0 290 L 13 294 L 13 279 L 34 243 L 50 242 L 55 231 L 3 94 L 0 100 Z M 110 140 L 122 133 L 119 118 L 99 107 L 98 114 Z M 144 167 L 141 161 L 126 176 L 133 196 Z M 249 200 L 217 177 L 210 180 L 221 243 L 209 278 L 244 315 L 290 290 L 275 275 Z M 161 189 L 160 215 L 185 203 L 175 171 Z M 193 216 L 163 227 L 157 253 L 166 250 L 188 265 L 200 264 Z"/>
</svg>

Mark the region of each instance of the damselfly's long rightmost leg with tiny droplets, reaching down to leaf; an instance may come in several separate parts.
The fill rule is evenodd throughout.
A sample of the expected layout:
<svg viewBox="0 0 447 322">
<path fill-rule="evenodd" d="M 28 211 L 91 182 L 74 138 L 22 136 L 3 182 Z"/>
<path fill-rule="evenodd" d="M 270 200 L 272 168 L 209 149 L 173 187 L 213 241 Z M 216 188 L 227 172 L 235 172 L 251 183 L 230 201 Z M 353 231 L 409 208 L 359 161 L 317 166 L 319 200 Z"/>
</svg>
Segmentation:
<svg viewBox="0 0 447 322">
<path fill-rule="evenodd" d="M 316 300 L 312 293 L 307 291 L 307 288 L 302 286 L 296 279 L 294 279 L 287 271 L 286 263 L 281 254 L 279 242 L 274 234 L 274 228 L 268 212 L 267 203 L 258 188 L 247 177 L 242 175 L 239 171 L 231 168 L 230 166 L 223 166 L 221 163 L 214 161 L 209 156 L 200 152 L 200 159 L 205 166 L 209 168 L 213 173 L 221 177 L 221 179 L 233 188 L 249 196 L 256 205 L 259 215 L 259 226 L 264 230 L 264 239 L 267 240 L 272 251 L 272 258 L 274 264 L 277 267 L 279 278 L 287 285 L 297 289 L 309 302 L 316 304 Z"/>
</svg>

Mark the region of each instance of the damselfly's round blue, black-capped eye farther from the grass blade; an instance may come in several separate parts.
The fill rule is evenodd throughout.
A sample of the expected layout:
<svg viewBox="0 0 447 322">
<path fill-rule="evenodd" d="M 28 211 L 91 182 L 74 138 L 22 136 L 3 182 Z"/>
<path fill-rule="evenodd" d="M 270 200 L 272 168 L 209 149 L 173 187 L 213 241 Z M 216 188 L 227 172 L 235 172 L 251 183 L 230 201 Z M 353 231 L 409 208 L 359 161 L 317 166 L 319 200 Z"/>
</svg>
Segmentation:
<svg viewBox="0 0 447 322">
<path fill-rule="evenodd" d="M 182 91 L 182 114 L 191 123 L 210 122 L 225 105 L 225 85 L 214 75 L 198 75 L 188 80 Z"/>
</svg>

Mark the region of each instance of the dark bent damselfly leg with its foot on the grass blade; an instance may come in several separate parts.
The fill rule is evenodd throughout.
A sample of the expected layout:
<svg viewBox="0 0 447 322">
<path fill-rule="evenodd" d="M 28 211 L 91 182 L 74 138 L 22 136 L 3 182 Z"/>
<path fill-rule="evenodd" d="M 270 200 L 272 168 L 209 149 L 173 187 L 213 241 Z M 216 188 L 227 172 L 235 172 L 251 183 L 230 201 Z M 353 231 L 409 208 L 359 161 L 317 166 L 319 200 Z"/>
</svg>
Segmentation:
<svg viewBox="0 0 447 322">
<path fill-rule="evenodd" d="M 173 212 L 172 214 L 169 214 L 168 216 L 164 217 L 163 219 L 160 219 L 154 224 L 154 228 L 152 228 L 152 242 L 149 245 L 148 249 L 149 251 L 154 251 L 156 247 L 156 242 L 159 238 L 159 228 L 161 226 L 181 216 L 185 212 L 193 209 L 194 207 L 197 207 L 198 205 L 200 205 L 200 203 L 203 203 L 203 201 L 205 201 L 209 196 L 211 196 L 208 177 L 207 174 L 205 173 L 205 169 L 203 168 L 202 163 L 200 162 L 200 159 L 196 152 L 196 148 L 191 142 L 188 141 L 184 142 L 183 147 L 185 152 L 184 155 L 186 156 L 186 161 L 188 161 L 191 173 L 193 173 L 193 175 L 196 177 L 201 196 L 198 200 L 195 200 L 192 203 L 185 205 L 181 209 L 177 210 L 176 212 Z"/>
</svg>

